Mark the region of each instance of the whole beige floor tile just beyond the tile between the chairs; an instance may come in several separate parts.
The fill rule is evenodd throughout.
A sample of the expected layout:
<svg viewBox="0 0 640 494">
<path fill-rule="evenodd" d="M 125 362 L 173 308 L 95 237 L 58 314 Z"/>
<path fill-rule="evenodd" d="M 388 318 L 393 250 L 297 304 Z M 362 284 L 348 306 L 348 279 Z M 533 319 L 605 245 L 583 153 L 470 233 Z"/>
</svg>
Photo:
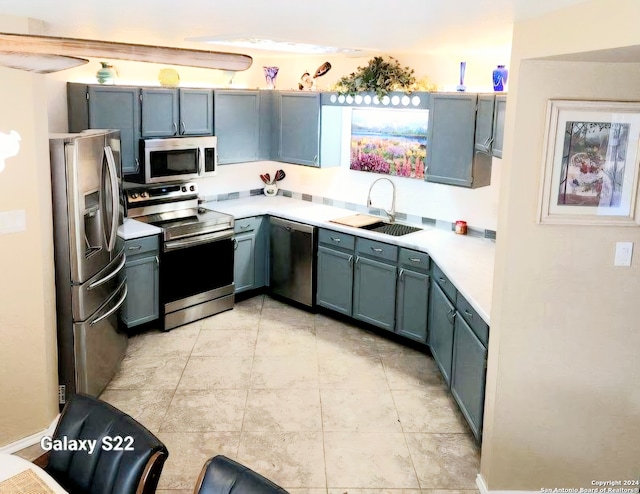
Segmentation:
<svg viewBox="0 0 640 494">
<path fill-rule="evenodd" d="M 246 390 L 176 391 L 160 431 L 240 431 L 246 402 Z"/>
</svg>

